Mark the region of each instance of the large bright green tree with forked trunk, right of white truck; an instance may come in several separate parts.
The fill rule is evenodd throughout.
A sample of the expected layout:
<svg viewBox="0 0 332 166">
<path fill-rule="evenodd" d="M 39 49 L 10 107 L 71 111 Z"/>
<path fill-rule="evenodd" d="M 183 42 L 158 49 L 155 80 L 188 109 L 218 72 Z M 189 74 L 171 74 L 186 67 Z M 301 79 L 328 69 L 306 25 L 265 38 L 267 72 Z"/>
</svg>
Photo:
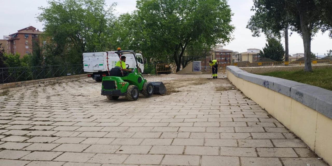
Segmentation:
<svg viewBox="0 0 332 166">
<path fill-rule="evenodd" d="M 173 59 L 180 70 L 186 48 L 229 42 L 234 27 L 226 0 L 138 0 L 137 23 L 145 50 Z"/>
</svg>

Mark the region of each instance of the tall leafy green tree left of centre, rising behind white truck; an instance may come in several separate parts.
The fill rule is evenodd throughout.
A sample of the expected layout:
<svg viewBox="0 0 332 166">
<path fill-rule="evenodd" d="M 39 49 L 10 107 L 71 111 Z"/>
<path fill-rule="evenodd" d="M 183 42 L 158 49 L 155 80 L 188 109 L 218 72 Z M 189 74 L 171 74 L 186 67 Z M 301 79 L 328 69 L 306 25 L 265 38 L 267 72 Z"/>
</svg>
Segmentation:
<svg viewBox="0 0 332 166">
<path fill-rule="evenodd" d="M 83 52 L 106 51 L 114 6 L 108 7 L 105 0 L 50 0 L 48 7 L 40 7 L 37 18 L 44 22 L 44 35 L 50 40 L 47 55 L 57 56 L 45 58 L 77 64 Z"/>
</svg>

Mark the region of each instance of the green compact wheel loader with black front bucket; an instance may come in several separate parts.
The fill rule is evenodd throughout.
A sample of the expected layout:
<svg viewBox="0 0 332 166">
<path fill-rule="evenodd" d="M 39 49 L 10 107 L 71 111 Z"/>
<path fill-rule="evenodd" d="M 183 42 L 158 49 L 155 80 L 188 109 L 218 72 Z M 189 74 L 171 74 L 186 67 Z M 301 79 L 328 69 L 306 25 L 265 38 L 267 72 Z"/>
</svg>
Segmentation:
<svg viewBox="0 0 332 166">
<path fill-rule="evenodd" d="M 124 71 L 122 67 L 109 70 L 109 76 L 102 79 L 101 95 L 107 96 L 109 100 L 117 100 L 120 96 L 125 96 L 127 100 L 135 101 L 138 99 L 139 93 L 145 97 L 166 93 L 166 87 L 162 82 L 147 82 L 143 78 L 142 73 L 137 70 L 138 64 L 133 51 L 122 51 L 121 48 L 118 48 L 115 53 L 119 55 L 120 60 L 121 56 L 125 56 L 125 54 L 133 54 L 136 67 L 131 68 L 131 72 Z M 126 68 L 129 69 L 129 65 L 126 65 Z"/>
</svg>

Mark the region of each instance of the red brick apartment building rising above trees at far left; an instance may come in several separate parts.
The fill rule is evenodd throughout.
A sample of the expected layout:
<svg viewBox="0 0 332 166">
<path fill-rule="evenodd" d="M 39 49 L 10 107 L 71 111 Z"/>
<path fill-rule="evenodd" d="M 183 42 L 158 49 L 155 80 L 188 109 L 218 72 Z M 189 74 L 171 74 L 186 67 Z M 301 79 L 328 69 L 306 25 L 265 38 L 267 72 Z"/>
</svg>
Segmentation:
<svg viewBox="0 0 332 166">
<path fill-rule="evenodd" d="M 33 40 L 39 42 L 39 37 L 42 32 L 35 27 L 30 26 L 21 30 L 17 33 L 11 34 L 8 42 L 8 53 L 20 53 L 22 58 L 25 54 L 32 53 L 33 51 Z"/>
</svg>

